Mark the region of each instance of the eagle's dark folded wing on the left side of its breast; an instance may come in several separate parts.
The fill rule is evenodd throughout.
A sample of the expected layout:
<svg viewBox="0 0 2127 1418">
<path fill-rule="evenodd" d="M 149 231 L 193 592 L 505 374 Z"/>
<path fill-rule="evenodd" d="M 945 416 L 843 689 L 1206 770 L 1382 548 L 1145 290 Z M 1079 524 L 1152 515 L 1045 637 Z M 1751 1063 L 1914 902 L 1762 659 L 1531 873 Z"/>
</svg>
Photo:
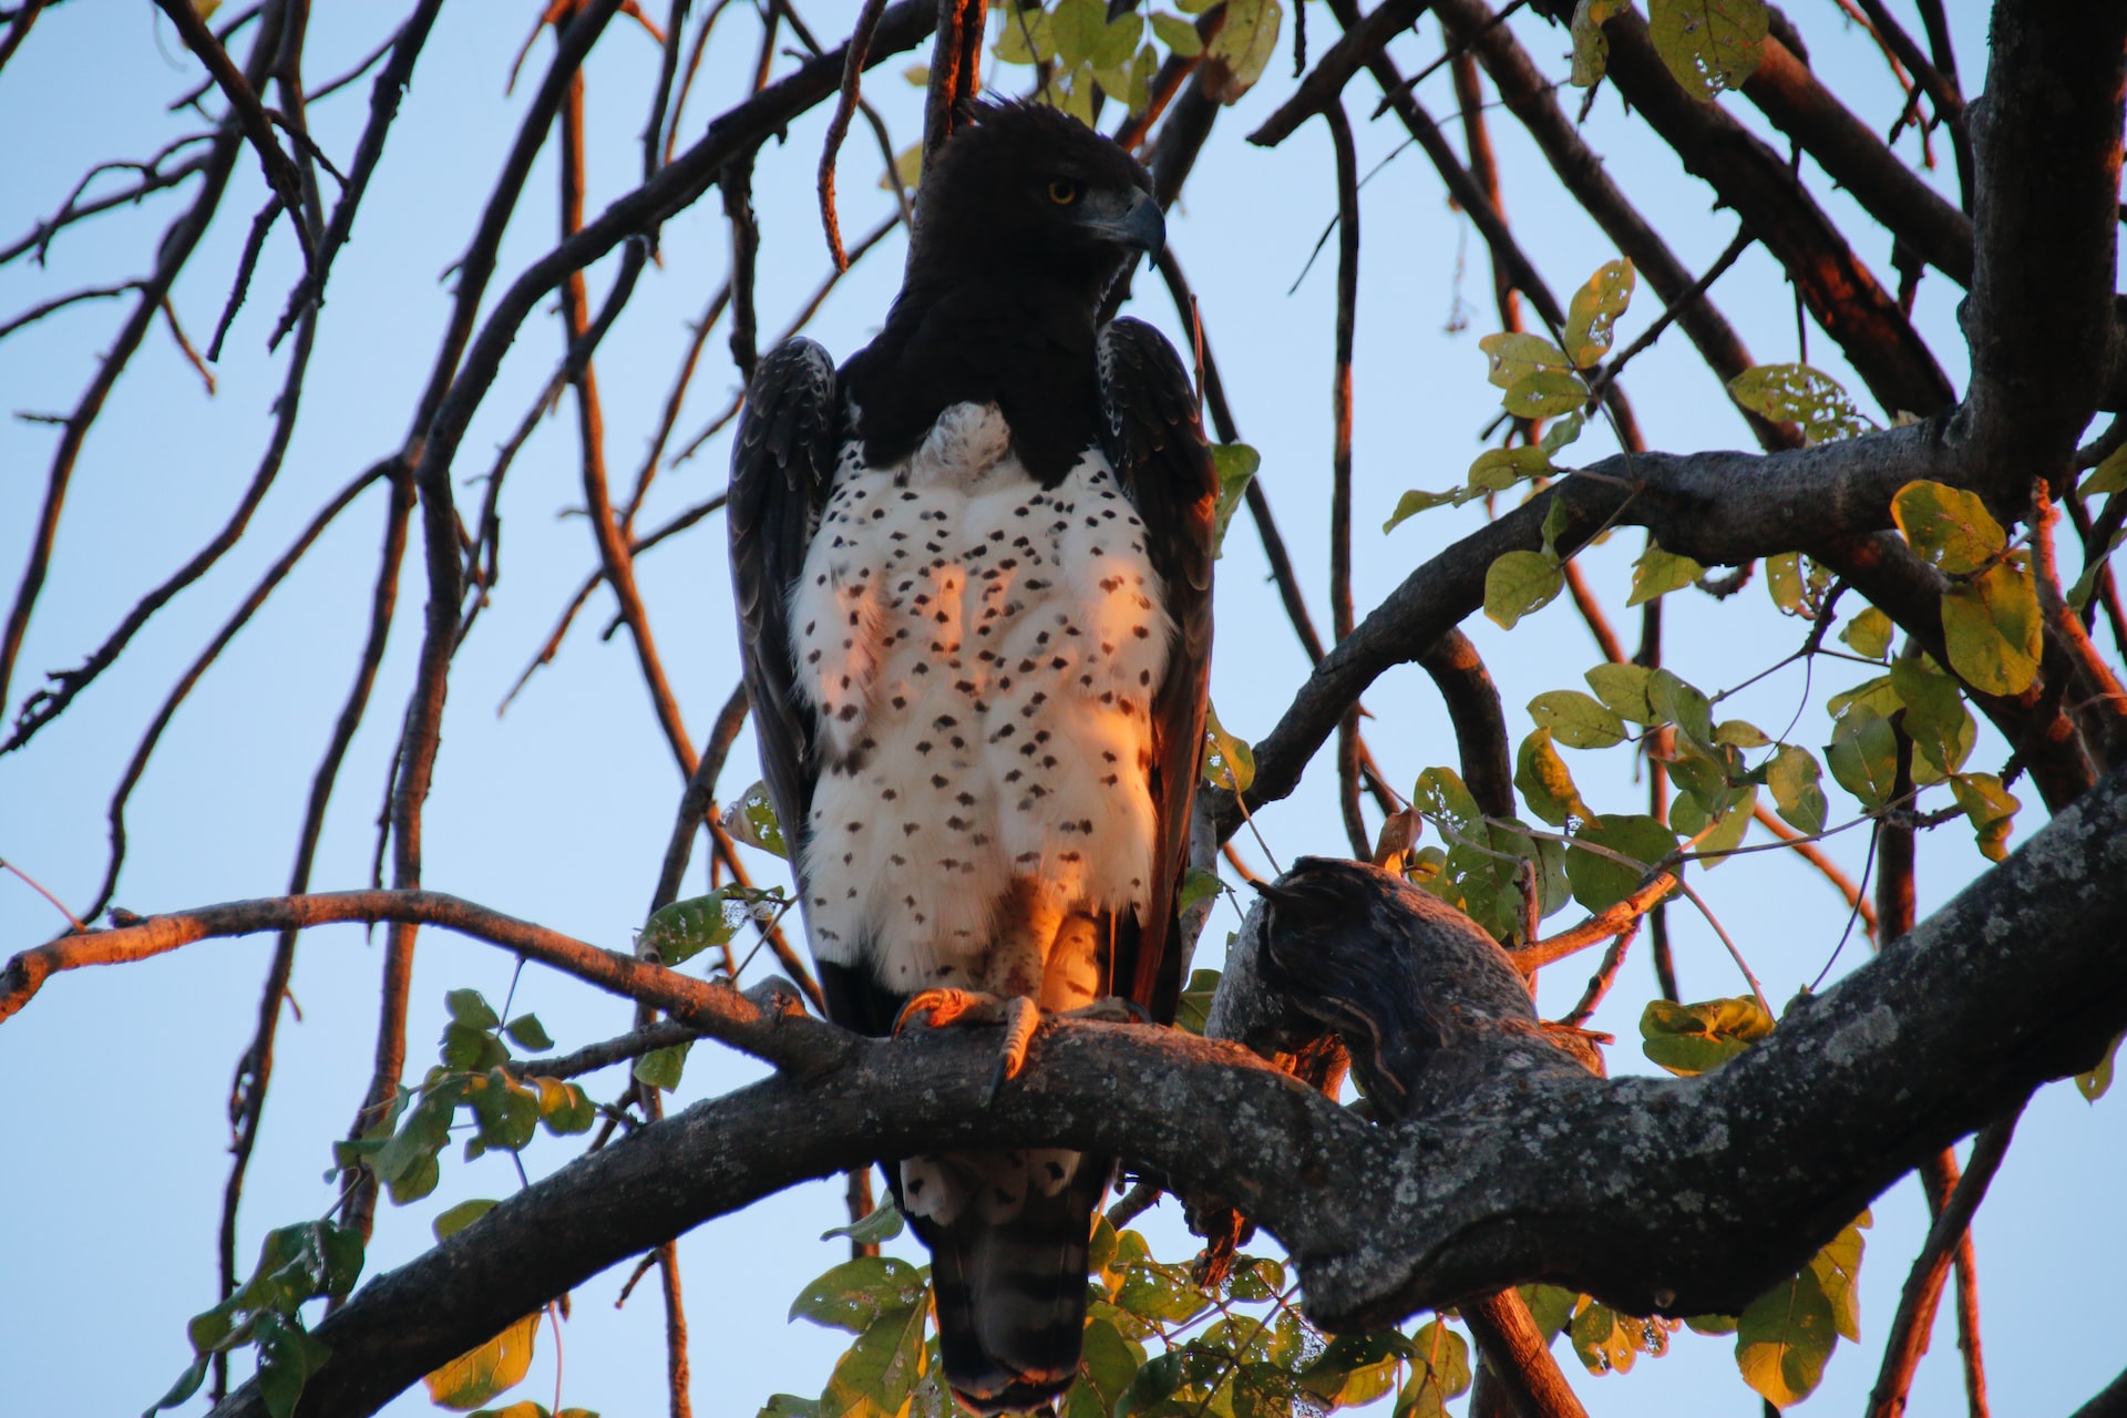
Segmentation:
<svg viewBox="0 0 2127 1418">
<path fill-rule="evenodd" d="M 783 823 L 791 870 L 804 861 L 813 816 L 815 725 L 798 702 L 791 655 L 791 585 L 804 572 L 842 449 L 834 359 L 813 340 L 785 340 L 753 372 L 732 446 L 732 600 L 753 704 L 761 778 Z M 800 895 L 804 880 L 800 876 Z"/>
</svg>

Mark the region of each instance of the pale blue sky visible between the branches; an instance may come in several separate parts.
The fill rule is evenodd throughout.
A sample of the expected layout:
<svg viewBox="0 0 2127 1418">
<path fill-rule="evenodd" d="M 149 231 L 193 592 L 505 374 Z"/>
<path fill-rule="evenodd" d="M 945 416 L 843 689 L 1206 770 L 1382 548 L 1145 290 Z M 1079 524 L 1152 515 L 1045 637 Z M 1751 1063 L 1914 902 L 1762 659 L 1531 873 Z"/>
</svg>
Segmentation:
<svg viewBox="0 0 2127 1418">
<path fill-rule="evenodd" d="M 1310 6 L 1317 49 L 1327 15 Z M 1984 53 L 1984 15 L 1974 0 L 1950 4 L 1961 30 L 1967 85 Z M 1797 0 L 1795 23 L 1810 40 L 1827 81 L 1878 130 L 1889 128 L 1897 91 L 1882 62 L 1857 45 L 1829 0 Z M 157 617 L 94 689 L 28 753 L 0 759 L 0 855 L 21 863 L 62 899 L 81 908 L 102 880 L 104 804 L 132 742 L 168 685 L 242 600 L 264 565 L 313 510 L 359 468 L 398 446 L 413 400 L 434 357 L 447 313 L 445 266 L 462 251 L 502 147 L 530 91 L 502 85 L 530 26 L 527 6 L 449 4 L 366 200 L 355 240 L 334 270 L 328 319 L 313 357 L 302 419 L 287 466 L 251 534 L 202 585 Z M 311 74 L 336 74 L 366 53 L 398 19 L 398 6 L 319 6 L 313 17 Z M 819 4 L 821 32 L 847 23 L 842 6 Z M 1514 19 L 1540 62 L 1561 70 L 1565 38 Z M 698 83 L 685 134 L 738 91 L 757 30 L 738 6 L 723 21 Z M 536 74 L 551 51 L 542 40 Z M 1406 70 L 1438 53 L 1438 32 L 1397 45 Z M 872 79 L 898 142 L 917 136 L 917 94 L 898 72 L 908 55 Z M 995 77 L 1017 83 L 1025 70 Z M 655 47 L 625 19 L 602 40 L 589 66 L 593 142 L 591 210 L 619 196 L 638 172 L 636 134 L 655 74 Z M 1287 60 L 1232 115 L 1198 166 L 1170 238 L 1195 281 L 1210 338 L 1221 357 L 1242 436 L 1263 451 L 1263 478 L 1285 534 L 1300 557 L 1312 604 L 1323 602 L 1327 521 L 1329 342 L 1334 247 L 1287 298 L 1308 249 L 1334 208 L 1329 145 L 1321 125 L 1304 128 L 1276 151 L 1240 142 L 1289 89 Z M 183 91 L 194 66 L 145 4 L 74 2 L 53 9 L 26 49 L 0 72 L 0 240 L 13 240 L 53 210 L 89 164 L 138 157 L 189 132 L 196 119 L 170 117 L 164 104 Z M 351 153 L 366 117 L 368 83 L 313 111 L 317 140 L 336 159 Z M 1355 96 L 1370 104 L 1368 83 Z M 1446 77 L 1421 89 L 1434 113 L 1453 102 Z M 1570 94 L 1568 102 L 1576 102 Z M 1763 130 L 1748 104 L 1731 111 Z M 1372 168 L 1395 147 L 1391 121 L 1363 121 L 1355 102 L 1361 162 Z M 1504 115 L 1502 115 L 1504 117 Z M 761 325 L 774 334 L 825 270 L 813 206 L 813 166 L 821 115 L 793 123 L 787 151 L 764 153 L 757 206 L 764 227 Z M 1576 213 L 1548 200 L 1548 170 L 1519 128 L 1497 121 L 1506 206 L 1555 289 L 1572 289 L 1614 251 Z M 1591 142 L 1608 153 L 1612 174 L 1657 217 L 1693 270 L 1727 244 L 1734 219 L 1710 210 L 1708 191 L 1674 157 L 1644 142 L 1604 96 L 1589 117 Z M 1910 140 L 1908 140 L 1910 145 Z M 1785 142 L 1782 142 L 1785 151 Z M 1810 181 L 1821 176 L 1804 164 Z M 851 136 L 842 157 L 844 230 L 870 227 L 887 206 L 874 187 L 876 151 Z M 1948 172 L 1938 174 L 1953 187 Z M 553 240 L 553 157 L 542 155 L 519 217 L 502 247 L 498 283 Z M 189 187 L 183 189 L 189 193 Z M 328 179 L 328 196 L 330 196 Z M 187 196 L 162 196 L 151 210 L 115 213 L 64 232 L 45 270 L 30 261 L 0 266 L 0 319 L 77 285 L 100 285 L 145 270 L 162 225 Z M 177 306 L 196 340 L 213 330 L 247 217 L 264 200 L 257 166 L 238 162 L 223 217 L 177 287 Z M 1825 196 L 1842 219 L 1850 206 Z M 676 217 L 664 232 L 664 266 L 644 272 L 627 317 L 600 351 L 608 455 L 617 478 L 632 478 L 644 438 L 670 387 L 685 321 L 700 315 L 723 278 L 725 236 L 715 198 Z M 1865 227 L 1855 227 L 1865 230 Z M 1357 368 L 1357 600 L 1376 604 L 1419 559 L 1476 525 L 1478 508 L 1436 510 L 1376 531 L 1406 487 L 1446 487 L 1461 478 L 1495 408 L 1483 381 L 1476 338 L 1493 327 L 1491 278 L 1483 244 L 1444 198 L 1431 168 L 1404 151 L 1366 187 Z M 813 327 L 838 355 L 868 338 L 898 283 L 900 238 L 859 266 Z M 1889 272 L 1889 240 L 1868 236 L 1863 257 Z M 1457 281 L 1457 261 L 1463 261 Z M 179 565 L 228 514 L 264 442 L 268 406 L 287 347 L 268 357 L 264 340 L 296 276 L 296 253 L 277 232 L 217 368 L 219 391 L 204 398 L 162 330 L 121 381 L 77 470 L 68 519 L 21 659 L 15 702 L 47 668 L 79 663 L 134 600 Z M 610 261 L 591 272 L 593 300 L 610 281 Z M 1144 289 L 1144 285 L 1140 285 Z M 1470 327 L 1444 332 L 1457 296 Z M 1797 357 L 1785 281 L 1757 251 L 1716 287 L 1716 300 L 1759 359 Z M 98 353 L 121 319 L 123 302 L 66 310 L 0 342 L 4 410 L 64 410 L 79 398 Z M 1176 327 L 1157 291 L 1138 313 Z M 1621 325 L 1621 342 L 1653 319 L 1642 289 Z M 1961 383 L 1955 291 L 1940 276 L 1921 289 L 1919 319 L 1938 355 Z M 464 497 L 493 449 L 521 419 L 527 400 L 559 353 L 551 302 L 525 327 L 457 459 Z M 1823 334 L 1812 359 L 1842 372 Z M 723 406 L 736 376 L 719 330 L 704 355 L 681 434 L 691 436 Z M 1746 432 L 1719 398 L 1712 376 L 1674 334 L 1634 364 L 1627 387 L 1653 446 L 1744 446 Z M 1885 410 L 1870 408 L 1878 419 Z M 0 572 L 13 589 L 43 497 L 53 429 L 0 423 Z M 1608 451 L 1591 432 L 1585 457 Z M 725 444 L 664 472 L 642 525 L 713 493 L 723 480 Z M 649 714 L 634 657 L 619 640 L 600 644 L 608 610 L 593 600 L 557 663 L 534 678 L 506 719 L 493 714 L 523 661 L 593 563 L 585 523 L 562 517 L 576 506 L 572 417 L 549 419 L 510 472 L 504 497 L 502 583 L 493 606 L 459 655 L 451 680 L 445 748 L 428 808 L 428 884 L 608 946 L 625 946 L 640 923 L 679 789 L 676 772 Z M 274 895 L 285 887 L 308 776 L 353 674 L 368 587 L 383 525 L 383 500 L 366 495 L 319 542 L 302 570 L 236 640 L 183 706 L 128 814 L 130 859 L 119 904 L 136 912 L 234 897 Z M 1591 551 L 1585 561 L 1623 629 L 1623 589 L 1638 536 Z M 1234 731 L 1257 738 L 1283 710 L 1304 659 L 1263 585 L 1253 531 L 1236 523 L 1221 563 L 1215 699 Z M 698 527 L 640 568 L 689 729 L 700 736 L 736 678 L 725 595 L 723 534 Z M 315 882 L 357 887 L 368 876 L 385 759 L 411 680 L 419 638 L 419 553 L 408 559 L 391 653 L 370 719 L 355 740 L 328 823 Z M 1778 621 L 1753 585 L 1725 606 L 1685 593 L 1672 597 L 1670 661 L 1706 689 L 1736 685 L 1802 640 Z M 1512 636 L 1483 619 L 1470 634 L 1500 680 L 1514 733 L 1521 710 L 1551 687 L 1576 685 L 1597 651 L 1555 604 Z M 1827 691 L 1859 678 L 1831 665 L 1816 676 L 1802 708 L 1799 742 L 1821 744 Z M 1778 731 L 1802 704 L 1802 676 L 1782 672 L 1740 697 L 1738 712 Z M 1368 697 L 1376 719 L 1370 740 L 1391 782 L 1408 787 L 1434 763 L 1453 761 L 1453 740 L 1427 680 L 1391 672 Z M 13 710 L 13 706 L 9 706 Z M 1978 761 L 1997 765 L 2002 744 L 1982 738 Z M 1638 799 L 1623 753 L 1576 755 L 1582 787 L 1597 806 Z M 753 778 L 742 744 L 725 776 L 736 791 Z M 2031 797 L 2031 793 L 2025 793 Z M 1833 793 L 1836 816 L 1850 801 Z M 2029 829 L 2029 808 L 2019 829 Z M 1342 850 L 1342 831 L 1325 765 L 1302 791 L 1259 816 L 1280 861 L 1306 850 Z M 1859 872 L 1863 833 L 1833 842 Z M 1242 850 L 1259 861 L 1244 840 Z M 1933 833 L 1921 857 L 1923 910 L 1978 870 L 1961 827 Z M 778 863 L 759 863 L 774 880 Z M 700 880 L 696 874 L 691 880 Z M 1765 982 L 1785 999 L 1816 976 L 1844 923 L 1833 893 L 1799 863 L 1776 855 L 1734 863 L 1702 878 L 1702 889 Z M 1676 923 L 1678 972 L 1687 997 L 1740 993 L 1742 982 L 1710 931 L 1691 916 Z M 57 921 L 15 882 L 0 882 L 0 950 L 45 940 Z M 1212 918 L 1200 963 L 1217 963 L 1232 929 L 1225 908 Z M 500 999 L 510 963 L 487 946 L 423 933 L 411 1027 L 413 1067 L 425 1067 L 442 1023 L 442 993 L 479 986 Z M 0 1371 L 9 1375 L 6 1412 L 138 1412 L 185 1365 L 183 1320 L 213 1293 L 213 1231 L 225 1176 L 225 1093 L 236 1052 L 249 1037 L 268 940 L 202 942 L 123 969 L 53 980 L 0 1029 L 0 1076 L 15 1082 L 15 1105 L 0 1122 L 0 1212 L 13 1218 L 0 1263 Z M 1850 944 L 1842 965 L 1863 959 Z M 249 1265 L 257 1237 L 319 1214 L 330 1193 L 319 1180 L 368 1069 L 374 1027 L 374 976 L 381 948 L 362 931 L 328 929 L 304 940 L 294 978 L 302 1023 L 287 1020 L 266 1127 L 251 1169 L 240 1252 Z M 1612 1069 L 1646 1067 L 1634 1046 L 1636 1016 L 1651 993 L 1644 959 L 1627 965 L 1597 1027 L 1621 1035 Z M 1561 1012 L 1585 980 L 1580 963 L 1546 976 L 1542 1003 Z M 564 1046 L 625 1027 L 621 1001 L 527 969 L 517 993 Z M 710 1097 L 753 1076 L 753 1065 L 696 1050 L 676 1105 Z M 617 1091 L 617 1074 L 593 1080 Z M 574 1154 L 540 1142 L 525 1165 L 545 1174 Z M 2127 1254 L 2127 1222 L 2112 1203 L 2110 1176 L 2123 1159 L 2121 1101 L 2089 1108 L 2065 1084 L 2044 1091 L 2019 1131 L 1978 1222 L 1984 1276 L 1984 1335 L 2002 1412 L 2065 1414 L 2112 1378 L 2118 1365 L 2110 1318 L 2110 1273 Z M 436 1197 L 385 1210 L 372 1246 L 372 1271 L 428 1244 L 430 1218 L 462 1197 L 498 1197 L 515 1186 L 496 1157 L 447 1163 Z M 1166 1208 L 1172 1212 L 1172 1208 Z M 1895 1186 L 1876 1205 L 1863 1265 L 1863 1344 L 1831 1358 L 1816 1412 L 1855 1412 L 1868 1392 L 1882 1331 L 1895 1307 L 1906 1261 L 1923 1216 L 1916 1188 Z M 713 1222 L 681 1242 L 693 1322 L 696 1412 L 751 1414 L 772 1390 L 815 1392 L 838 1337 L 787 1327 L 785 1307 L 813 1273 L 838 1259 L 840 1244 L 813 1237 L 840 1220 L 840 1186 L 802 1186 L 744 1216 Z M 1168 1250 L 1183 1242 L 1172 1216 L 1157 1222 Z M 625 1278 L 608 1273 L 576 1293 L 566 1333 L 566 1401 L 606 1414 L 659 1412 L 661 1331 L 647 1290 L 615 1316 Z M 1950 1331 L 1938 1331 L 1923 1363 L 1912 1412 L 1961 1409 Z M 551 1401 L 551 1348 L 545 1348 L 521 1397 Z M 1568 1361 L 1570 1363 L 1570 1361 Z M 1757 1414 L 1757 1399 L 1734 1375 L 1729 1344 L 1682 1335 L 1668 1358 L 1642 1361 L 1625 1378 L 1589 1380 L 1574 1367 L 1591 1414 Z M 200 1405 L 194 1405 L 194 1412 Z M 417 1395 L 393 1414 L 432 1412 Z"/>
</svg>

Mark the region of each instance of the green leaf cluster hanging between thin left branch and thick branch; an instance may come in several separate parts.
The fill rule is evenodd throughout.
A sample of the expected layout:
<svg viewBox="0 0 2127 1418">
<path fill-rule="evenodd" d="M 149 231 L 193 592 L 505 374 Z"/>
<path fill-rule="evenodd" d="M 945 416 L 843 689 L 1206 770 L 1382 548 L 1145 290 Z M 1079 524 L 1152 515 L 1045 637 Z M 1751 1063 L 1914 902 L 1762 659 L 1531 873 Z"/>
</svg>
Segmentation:
<svg viewBox="0 0 2127 1418">
<path fill-rule="evenodd" d="M 598 1110 L 583 1088 L 559 1078 L 525 1078 L 513 1069 L 510 1044 L 532 1052 L 553 1048 L 536 1014 L 502 1023 L 479 991 L 442 997 L 451 1023 L 442 1027 L 440 1063 L 419 1088 L 400 1086 L 385 1116 L 362 1137 L 334 1144 L 338 1169 L 368 1167 L 396 1205 L 436 1191 L 440 1154 L 451 1142 L 457 1110 L 472 1112 L 466 1161 L 496 1148 L 525 1148 L 540 1125 L 562 1137 L 589 1131 Z"/>
</svg>

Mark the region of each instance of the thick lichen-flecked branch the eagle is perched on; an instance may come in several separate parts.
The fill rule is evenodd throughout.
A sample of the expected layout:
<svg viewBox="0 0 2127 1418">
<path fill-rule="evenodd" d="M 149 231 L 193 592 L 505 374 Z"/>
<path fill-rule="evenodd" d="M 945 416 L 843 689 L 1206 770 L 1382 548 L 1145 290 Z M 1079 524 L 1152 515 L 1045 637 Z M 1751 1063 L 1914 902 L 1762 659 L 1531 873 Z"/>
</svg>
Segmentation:
<svg viewBox="0 0 2127 1418">
<path fill-rule="evenodd" d="M 1489 946 L 1453 912 L 1431 921 L 1438 935 L 1412 938 L 1434 952 L 1421 969 L 1457 933 Z M 1710 1076 L 1597 1080 L 1502 1020 L 1457 1031 L 1457 1014 L 1431 1059 L 1463 1050 L 1485 1067 L 1427 1071 L 1412 1120 L 1387 1127 L 1238 1046 L 1176 1031 L 1053 1025 L 1021 1080 L 985 1108 L 995 1067 L 985 1031 L 876 1042 L 778 1018 L 766 1027 L 830 1037 L 842 1067 L 810 1082 L 783 1074 L 638 1129 L 372 1280 L 319 1327 L 334 1354 L 300 1412 L 374 1412 L 608 1265 L 793 1182 L 919 1146 L 1044 1142 L 1146 1157 L 1178 1186 L 1234 1197 L 1278 1235 L 1308 1314 L 1332 1329 L 1523 1280 L 1580 1286 L 1631 1314 L 1736 1312 L 1921 1157 L 2036 1084 L 2089 1067 L 2127 1025 L 2127 976 L 2114 969 L 2123 923 L 2127 772 Z M 508 929 L 513 942 L 534 931 Z M 198 914 L 60 948 L 100 942 L 111 955 L 125 938 L 138 952 L 149 935 L 172 948 L 187 933 L 198 938 Z M 9 978 L 34 959 L 17 957 Z M 1440 1074 L 1453 1086 L 1436 1088 Z M 1810 1086 L 1793 1086 L 1799 1078 Z M 689 1184 L 672 1186 L 674 1176 Z M 217 1412 L 264 1407 L 247 1388 Z"/>
</svg>

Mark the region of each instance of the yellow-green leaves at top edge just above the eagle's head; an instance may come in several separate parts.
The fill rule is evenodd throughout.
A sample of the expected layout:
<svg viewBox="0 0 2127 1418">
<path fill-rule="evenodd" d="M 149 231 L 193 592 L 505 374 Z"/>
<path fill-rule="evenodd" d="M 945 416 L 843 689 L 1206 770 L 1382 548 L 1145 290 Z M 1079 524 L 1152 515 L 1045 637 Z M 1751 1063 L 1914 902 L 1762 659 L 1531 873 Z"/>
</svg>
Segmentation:
<svg viewBox="0 0 2127 1418">
<path fill-rule="evenodd" d="M 1138 15 L 1136 4 L 1110 15 L 1106 0 L 1004 6 L 995 55 L 1004 64 L 1042 66 L 1042 98 L 1085 123 L 1093 123 L 1095 94 L 1142 113 L 1161 49 L 1217 66 L 1219 98 L 1234 102 L 1263 77 L 1285 6 L 1280 0 L 1227 0 L 1219 23 L 1206 26 L 1210 34 L 1204 34 L 1189 17 L 1212 9 L 1212 2 L 1176 0 L 1178 15 Z"/>
</svg>

